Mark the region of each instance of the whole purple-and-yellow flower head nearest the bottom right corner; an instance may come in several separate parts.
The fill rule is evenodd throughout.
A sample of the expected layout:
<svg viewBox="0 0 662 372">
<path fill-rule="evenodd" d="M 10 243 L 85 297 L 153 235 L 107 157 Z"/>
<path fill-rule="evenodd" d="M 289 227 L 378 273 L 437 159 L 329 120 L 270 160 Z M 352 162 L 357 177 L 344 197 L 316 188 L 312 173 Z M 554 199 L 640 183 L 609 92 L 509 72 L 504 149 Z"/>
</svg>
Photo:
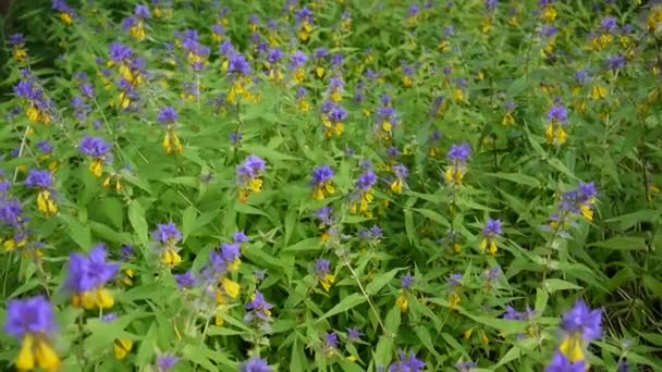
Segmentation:
<svg viewBox="0 0 662 372">
<path fill-rule="evenodd" d="M 559 347 L 560 352 L 573 363 L 583 361 L 586 346 L 602 336 L 602 310 L 591 310 L 579 300 L 563 315 L 561 328 L 565 337 Z"/>
</svg>

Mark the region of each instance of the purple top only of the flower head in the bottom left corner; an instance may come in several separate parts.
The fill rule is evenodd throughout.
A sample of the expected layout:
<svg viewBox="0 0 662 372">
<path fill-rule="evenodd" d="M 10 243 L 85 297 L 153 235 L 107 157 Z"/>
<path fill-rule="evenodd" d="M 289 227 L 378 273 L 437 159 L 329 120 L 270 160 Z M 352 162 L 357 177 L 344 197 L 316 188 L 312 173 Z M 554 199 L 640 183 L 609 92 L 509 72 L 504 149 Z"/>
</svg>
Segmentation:
<svg viewBox="0 0 662 372">
<path fill-rule="evenodd" d="M 56 328 L 53 306 L 44 296 L 12 300 L 7 306 L 4 332 L 16 338 L 51 334 Z"/>
</svg>

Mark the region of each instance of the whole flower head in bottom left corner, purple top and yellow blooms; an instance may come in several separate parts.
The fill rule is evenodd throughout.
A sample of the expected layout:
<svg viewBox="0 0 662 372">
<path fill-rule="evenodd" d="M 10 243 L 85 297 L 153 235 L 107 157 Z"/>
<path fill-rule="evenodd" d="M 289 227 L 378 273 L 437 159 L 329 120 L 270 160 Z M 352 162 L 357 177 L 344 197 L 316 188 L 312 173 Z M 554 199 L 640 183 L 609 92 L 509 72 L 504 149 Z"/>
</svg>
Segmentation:
<svg viewBox="0 0 662 372">
<path fill-rule="evenodd" d="M 17 370 L 60 370 L 60 357 L 50 342 L 56 327 L 53 306 L 45 297 L 9 302 L 4 332 L 21 340 L 21 350 L 14 361 Z"/>
</svg>

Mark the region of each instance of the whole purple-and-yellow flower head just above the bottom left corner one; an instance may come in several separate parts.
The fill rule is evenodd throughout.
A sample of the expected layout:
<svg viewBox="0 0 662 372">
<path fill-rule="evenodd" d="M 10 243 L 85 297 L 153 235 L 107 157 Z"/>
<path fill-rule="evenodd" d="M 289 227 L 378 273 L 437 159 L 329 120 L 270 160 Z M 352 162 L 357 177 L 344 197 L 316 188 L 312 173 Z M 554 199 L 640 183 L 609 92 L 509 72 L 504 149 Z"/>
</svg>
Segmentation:
<svg viewBox="0 0 662 372">
<path fill-rule="evenodd" d="M 120 265 L 107 262 L 107 256 L 108 251 L 102 244 L 96 246 L 87 257 L 78 253 L 70 256 L 65 288 L 74 294 L 74 307 L 90 310 L 108 309 L 114 305 L 112 295 L 105 285 L 115 277 Z"/>
</svg>

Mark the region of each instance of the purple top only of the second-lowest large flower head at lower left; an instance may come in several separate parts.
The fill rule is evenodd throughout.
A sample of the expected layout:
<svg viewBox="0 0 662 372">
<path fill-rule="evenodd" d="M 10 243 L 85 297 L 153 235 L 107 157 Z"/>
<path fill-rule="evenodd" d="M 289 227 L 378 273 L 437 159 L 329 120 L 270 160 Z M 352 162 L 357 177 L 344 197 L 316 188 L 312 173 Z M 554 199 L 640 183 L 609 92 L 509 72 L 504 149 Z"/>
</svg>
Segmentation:
<svg viewBox="0 0 662 372">
<path fill-rule="evenodd" d="M 120 265 L 106 261 L 107 257 L 108 251 L 102 244 L 96 246 L 87 257 L 72 253 L 69 258 L 69 277 L 64 287 L 82 294 L 102 287 L 112 281 L 120 271 Z"/>
</svg>

